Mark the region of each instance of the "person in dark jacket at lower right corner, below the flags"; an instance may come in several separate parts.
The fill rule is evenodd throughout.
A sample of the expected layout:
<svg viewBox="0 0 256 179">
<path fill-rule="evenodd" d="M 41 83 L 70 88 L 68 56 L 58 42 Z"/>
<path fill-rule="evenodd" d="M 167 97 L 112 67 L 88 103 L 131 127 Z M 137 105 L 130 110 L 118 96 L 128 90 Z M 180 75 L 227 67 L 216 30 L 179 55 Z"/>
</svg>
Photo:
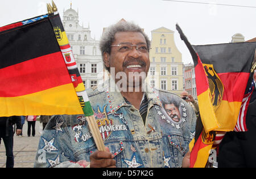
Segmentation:
<svg viewBox="0 0 256 179">
<path fill-rule="evenodd" d="M 226 133 L 218 152 L 219 168 L 256 167 L 256 100 L 248 107 L 246 132 Z"/>
</svg>

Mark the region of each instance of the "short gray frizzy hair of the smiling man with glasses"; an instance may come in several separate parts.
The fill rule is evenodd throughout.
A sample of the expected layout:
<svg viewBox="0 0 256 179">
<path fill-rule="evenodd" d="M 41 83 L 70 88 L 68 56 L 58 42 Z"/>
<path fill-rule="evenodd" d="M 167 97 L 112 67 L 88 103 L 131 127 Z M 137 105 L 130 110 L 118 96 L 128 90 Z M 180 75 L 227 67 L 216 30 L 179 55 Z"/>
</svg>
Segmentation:
<svg viewBox="0 0 256 179">
<path fill-rule="evenodd" d="M 110 25 L 110 27 L 106 28 L 100 41 L 100 49 L 101 49 L 101 55 L 104 59 L 104 53 L 111 53 L 111 45 L 113 41 L 115 40 L 115 33 L 117 32 L 140 32 L 144 36 L 146 42 L 147 42 L 147 49 L 148 52 L 150 50 L 150 40 L 148 39 L 148 36 L 146 33 L 143 32 L 142 28 L 138 25 L 131 23 L 131 22 L 118 22 L 114 25 Z M 104 65 L 105 66 L 105 65 Z M 105 66 L 105 69 L 109 71 L 109 68 Z"/>
</svg>

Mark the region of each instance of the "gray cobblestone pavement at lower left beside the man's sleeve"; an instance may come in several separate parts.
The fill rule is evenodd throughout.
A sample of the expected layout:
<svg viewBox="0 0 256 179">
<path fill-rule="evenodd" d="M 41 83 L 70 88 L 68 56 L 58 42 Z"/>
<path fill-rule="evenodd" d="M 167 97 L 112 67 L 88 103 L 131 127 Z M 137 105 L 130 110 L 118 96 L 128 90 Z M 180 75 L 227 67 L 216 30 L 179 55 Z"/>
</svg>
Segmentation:
<svg viewBox="0 0 256 179">
<path fill-rule="evenodd" d="M 25 121 L 23 125 L 23 137 L 18 137 L 16 136 L 16 134 L 14 134 L 14 168 L 34 167 L 36 151 L 38 150 L 39 138 L 43 130 L 42 123 L 36 121 L 35 130 L 35 137 L 32 137 L 32 135 L 30 137 L 27 137 L 27 121 Z M 0 146 L 0 168 L 5 168 L 5 163 L 5 144 L 2 140 Z"/>
</svg>

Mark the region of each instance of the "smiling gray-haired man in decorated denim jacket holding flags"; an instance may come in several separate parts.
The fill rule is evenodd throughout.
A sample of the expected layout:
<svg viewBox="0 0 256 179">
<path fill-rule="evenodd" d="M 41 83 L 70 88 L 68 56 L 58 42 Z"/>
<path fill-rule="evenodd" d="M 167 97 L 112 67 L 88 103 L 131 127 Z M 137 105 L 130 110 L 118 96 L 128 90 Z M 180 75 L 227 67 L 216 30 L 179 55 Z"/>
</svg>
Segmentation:
<svg viewBox="0 0 256 179">
<path fill-rule="evenodd" d="M 106 151 L 97 150 L 82 114 L 54 116 L 35 167 L 187 167 L 195 112 L 179 96 L 147 86 L 148 37 L 138 25 L 117 23 L 106 29 L 100 48 L 111 76 L 86 92 Z M 179 122 L 170 120 L 162 104 L 167 98 L 178 106 Z"/>
</svg>

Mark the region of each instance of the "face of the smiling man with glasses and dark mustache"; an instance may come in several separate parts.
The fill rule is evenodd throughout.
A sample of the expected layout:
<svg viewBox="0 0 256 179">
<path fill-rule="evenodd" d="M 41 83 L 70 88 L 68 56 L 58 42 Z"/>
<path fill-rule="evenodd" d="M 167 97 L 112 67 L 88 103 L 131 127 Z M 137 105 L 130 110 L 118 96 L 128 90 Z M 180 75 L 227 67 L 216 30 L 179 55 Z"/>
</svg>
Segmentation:
<svg viewBox="0 0 256 179">
<path fill-rule="evenodd" d="M 117 45 L 122 46 L 117 46 Z M 125 45 L 123 45 L 125 44 Z M 128 44 L 128 45 L 127 45 Z M 127 85 L 134 86 L 134 82 L 141 82 L 144 80 L 141 76 L 133 76 L 135 74 L 146 74 L 150 67 L 150 59 L 148 51 L 142 52 L 142 50 L 137 50 L 136 46 L 139 45 L 142 48 L 147 48 L 147 43 L 139 32 L 117 32 L 115 34 L 115 40 L 113 42 L 114 46 L 111 48 L 111 53 L 104 54 L 104 63 L 106 67 L 113 68 L 115 70 L 115 76 L 117 73 L 123 72 L 126 76 Z M 133 46 L 130 46 L 133 45 Z M 122 49 L 121 49 L 122 48 Z M 130 50 L 125 50 L 131 48 Z M 145 50 L 144 50 L 145 51 Z M 111 69 L 110 69 L 111 70 Z M 111 71 L 110 71 L 111 73 Z M 113 76 L 112 76 L 113 78 Z M 119 79 L 115 78 L 115 83 Z"/>
</svg>

